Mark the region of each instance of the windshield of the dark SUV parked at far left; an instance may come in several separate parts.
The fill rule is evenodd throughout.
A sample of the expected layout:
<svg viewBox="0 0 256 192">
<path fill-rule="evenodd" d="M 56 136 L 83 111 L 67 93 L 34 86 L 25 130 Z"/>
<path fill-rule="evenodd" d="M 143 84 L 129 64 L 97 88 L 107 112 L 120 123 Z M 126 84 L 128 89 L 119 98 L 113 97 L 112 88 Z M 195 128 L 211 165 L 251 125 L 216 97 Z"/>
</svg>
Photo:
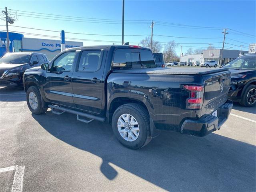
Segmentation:
<svg viewBox="0 0 256 192">
<path fill-rule="evenodd" d="M 29 62 L 29 55 L 5 54 L 0 58 L 0 64 L 24 64 Z"/>
</svg>

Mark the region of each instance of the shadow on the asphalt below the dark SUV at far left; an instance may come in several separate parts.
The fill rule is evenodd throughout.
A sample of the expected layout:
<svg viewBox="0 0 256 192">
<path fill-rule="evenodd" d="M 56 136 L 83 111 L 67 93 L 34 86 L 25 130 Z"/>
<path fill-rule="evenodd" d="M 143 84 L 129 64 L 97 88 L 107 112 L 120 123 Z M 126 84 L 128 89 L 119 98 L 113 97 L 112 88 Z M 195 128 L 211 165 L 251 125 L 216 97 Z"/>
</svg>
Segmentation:
<svg viewBox="0 0 256 192">
<path fill-rule="evenodd" d="M 26 101 L 26 93 L 23 87 L 0 87 L 0 101 Z"/>
</svg>

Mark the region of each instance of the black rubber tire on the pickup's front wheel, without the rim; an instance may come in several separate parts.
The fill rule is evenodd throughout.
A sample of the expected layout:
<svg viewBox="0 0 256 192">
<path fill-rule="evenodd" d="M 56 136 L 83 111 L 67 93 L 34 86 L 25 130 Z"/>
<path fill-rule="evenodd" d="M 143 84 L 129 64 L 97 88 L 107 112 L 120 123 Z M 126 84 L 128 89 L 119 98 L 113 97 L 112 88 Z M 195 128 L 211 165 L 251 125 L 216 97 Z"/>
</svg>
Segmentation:
<svg viewBox="0 0 256 192">
<path fill-rule="evenodd" d="M 31 106 L 30 106 L 30 103 L 29 103 L 29 94 L 33 92 L 35 95 L 36 95 L 36 98 L 37 98 L 37 108 L 36 109 L 33 109 Z M 33 114 L 43 114 L 43 113 L 46 113 L 47 109 L 48 108 L 43 108 L 42 106 L 42 100 L 41 100 L 41 94 L 40 94 L 40 91 L 38 90 L 37 86 L 30 86 L 26 92 L 26 100 L 27 100 L 27 104 L 28 104 L 28 108 L 29 110 L 33 113 Z"/>
</svg>

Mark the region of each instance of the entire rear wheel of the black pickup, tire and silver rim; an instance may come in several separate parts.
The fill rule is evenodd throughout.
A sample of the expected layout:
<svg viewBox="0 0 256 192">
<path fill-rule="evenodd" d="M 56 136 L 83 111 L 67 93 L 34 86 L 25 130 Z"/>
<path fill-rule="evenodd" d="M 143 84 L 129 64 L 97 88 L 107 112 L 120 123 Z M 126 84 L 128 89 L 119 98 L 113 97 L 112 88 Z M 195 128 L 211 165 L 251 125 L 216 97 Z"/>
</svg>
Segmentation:
<svg viewBox="0 0 256 192">
<path fill-rule="evenodd" d="M 151 140 L 146 109 L 136 103 L 124 104 L 112 117 L 112 129 L 117 140 L 131 149 L 139 149 Z"/>
</svg>

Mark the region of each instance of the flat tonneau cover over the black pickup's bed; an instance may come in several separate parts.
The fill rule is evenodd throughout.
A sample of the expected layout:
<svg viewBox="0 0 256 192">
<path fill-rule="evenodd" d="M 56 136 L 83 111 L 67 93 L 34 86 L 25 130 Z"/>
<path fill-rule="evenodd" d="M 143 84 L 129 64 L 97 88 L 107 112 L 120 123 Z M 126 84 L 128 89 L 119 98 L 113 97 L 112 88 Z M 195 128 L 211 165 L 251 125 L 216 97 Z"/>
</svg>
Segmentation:
<svg viewBox="0 0 256 192">
<path fill-rule="evenodd" d="M 113 73 L 170 74 L 170 75 L 203 75 L 228 70 L 228 68 L 168 67 L 116 70 Z"/>
</svg>

